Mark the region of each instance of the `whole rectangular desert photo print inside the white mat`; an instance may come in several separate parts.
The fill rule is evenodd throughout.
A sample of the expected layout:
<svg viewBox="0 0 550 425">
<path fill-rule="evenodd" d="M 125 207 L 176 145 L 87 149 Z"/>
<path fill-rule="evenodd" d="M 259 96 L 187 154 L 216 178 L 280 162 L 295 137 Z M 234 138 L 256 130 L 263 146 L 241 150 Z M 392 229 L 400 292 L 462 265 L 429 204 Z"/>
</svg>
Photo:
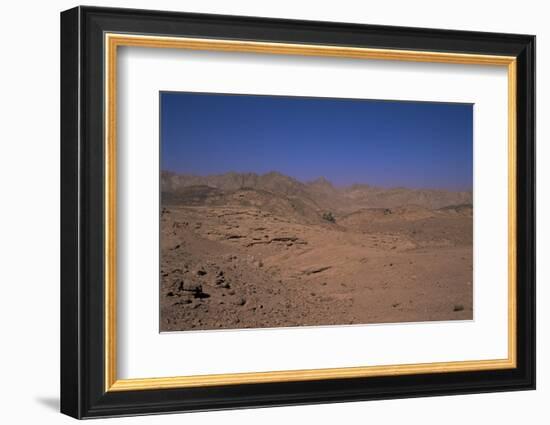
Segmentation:
<svg viewBox="0 0 550 425">
<path fill-rule="evenodd" d="M 160 100 L 161 331 L 472 319 L 471 104 Z"/>
</svg>

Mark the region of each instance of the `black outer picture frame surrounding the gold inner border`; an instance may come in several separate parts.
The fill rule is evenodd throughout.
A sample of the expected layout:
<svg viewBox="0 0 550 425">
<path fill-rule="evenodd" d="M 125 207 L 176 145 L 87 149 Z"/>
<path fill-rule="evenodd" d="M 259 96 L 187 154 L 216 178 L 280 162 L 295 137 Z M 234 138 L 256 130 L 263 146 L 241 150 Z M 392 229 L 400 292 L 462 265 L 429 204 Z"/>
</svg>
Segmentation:
<svg viewBox="0 0 550 425">
<path fill-rule="evenodd" d="M 105 391 L 104 33 L 507 55 L 517 59 L 517 367 Z M 75 418 L 535 388 L 535 37 L 131 9 L 61 13 L 61 412 Z"/>
</svg>

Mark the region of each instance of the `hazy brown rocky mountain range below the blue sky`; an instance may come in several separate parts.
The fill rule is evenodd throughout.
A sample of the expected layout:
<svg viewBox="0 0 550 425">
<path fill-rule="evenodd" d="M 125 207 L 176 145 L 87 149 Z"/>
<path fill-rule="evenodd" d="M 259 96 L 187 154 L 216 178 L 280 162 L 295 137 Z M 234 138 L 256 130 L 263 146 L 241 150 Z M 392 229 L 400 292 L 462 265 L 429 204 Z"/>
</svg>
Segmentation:
<svg viewBox="0 0 550 425">
<path fill-rule="evenodd" d="M 339 188 L 319 178 L 302 183 L 281 173 L 226 173 L 195 176 L 163 171 L 161 174 L 163 203 L 219 205 L 249 203 L 257 206 L 288 208 L 301 215 L 318 216 L 330 210 L 346 214 L 361 208 L 396 208 L 415 205 L 440 209 L 471 205 L 472 192 L 432 189 L 381 188 L 356 184 Z M 271 198 L 271 199 L 270 199 Z"/>
</svg>

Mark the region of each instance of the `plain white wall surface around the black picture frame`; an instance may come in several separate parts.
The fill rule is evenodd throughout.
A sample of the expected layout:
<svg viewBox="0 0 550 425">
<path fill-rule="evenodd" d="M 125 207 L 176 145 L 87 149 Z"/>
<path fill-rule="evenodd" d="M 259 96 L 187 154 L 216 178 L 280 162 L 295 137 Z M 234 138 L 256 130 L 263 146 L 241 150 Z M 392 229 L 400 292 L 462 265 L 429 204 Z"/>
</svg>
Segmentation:
<svg viewBox="0 0 550 425">
<path fill-rule="evenodd" d="M 0 392 L 2 422 L 70 423 L 59 381 L 59 12 L 71 1 L 9 2 L 0 17 Z M 190 12 L 517 32 L 537 35 L 537 391 L 111 420 L 110 423 L 548 423 L 550 399 L 550 27 L 540 1 L 97 1 Z M 546 193 L 545 193 L 546 192 Z M 545 403 L 546 402 L 546 403 Z"/>
</svg>

